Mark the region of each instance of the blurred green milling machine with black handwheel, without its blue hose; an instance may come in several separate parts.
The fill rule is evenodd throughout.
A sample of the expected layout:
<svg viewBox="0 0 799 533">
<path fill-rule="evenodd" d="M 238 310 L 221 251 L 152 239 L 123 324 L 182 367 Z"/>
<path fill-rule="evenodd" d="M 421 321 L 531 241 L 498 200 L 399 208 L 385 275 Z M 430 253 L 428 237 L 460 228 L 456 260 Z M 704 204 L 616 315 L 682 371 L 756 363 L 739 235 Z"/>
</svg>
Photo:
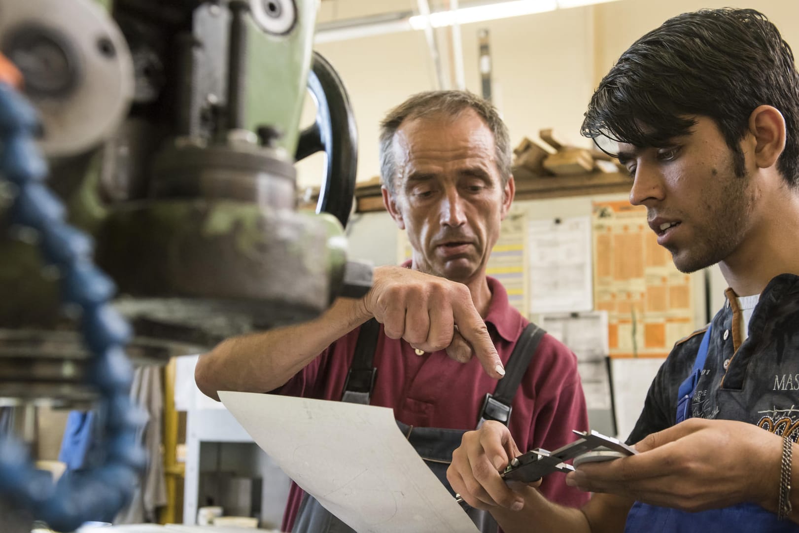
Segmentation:
<svg viewBox="0 0 799 533">
<path fill-rule="evenodd" d="M 105 3 L 0 0 L 0 51 L 39 113 L 48 185 L 117 285 L 129 354 L 202 352 L 368 291 L 344 238 L 355 122 L 312 52 L 318 0 Z M 301 131 L 308 91 L 316 123 Z M 320 201 L 300 212 L 294 162 L 319 151 Z M 90 402 L 74 316 L 3 197 L 0 405 Z"/>
</svg>

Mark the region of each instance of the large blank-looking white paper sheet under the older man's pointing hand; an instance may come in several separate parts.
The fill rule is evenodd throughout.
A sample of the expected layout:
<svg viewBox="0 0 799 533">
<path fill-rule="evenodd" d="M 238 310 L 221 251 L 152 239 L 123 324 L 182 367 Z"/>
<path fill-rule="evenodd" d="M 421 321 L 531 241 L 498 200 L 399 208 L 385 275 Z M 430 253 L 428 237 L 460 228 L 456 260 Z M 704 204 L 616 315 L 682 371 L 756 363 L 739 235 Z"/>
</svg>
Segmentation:
<svg viewBox="0 0 799 533">
<path fill-rule="evenodd" d="M 478 533 L 389 408 L 219 392 L 280 468 L 358 533 Z"/>
</svg>

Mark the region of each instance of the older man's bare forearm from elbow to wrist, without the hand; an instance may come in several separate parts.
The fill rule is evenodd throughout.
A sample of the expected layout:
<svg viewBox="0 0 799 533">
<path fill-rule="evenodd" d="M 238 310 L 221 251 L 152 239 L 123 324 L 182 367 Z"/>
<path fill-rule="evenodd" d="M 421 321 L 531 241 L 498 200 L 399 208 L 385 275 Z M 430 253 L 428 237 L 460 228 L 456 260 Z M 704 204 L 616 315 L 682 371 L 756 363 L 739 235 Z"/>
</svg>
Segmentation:
<svg viewBox="0 0 799 533">
<path fill-rule="evenodd" d="M 225 340 L 200 356 L 197 387 L 214 400 L 217 391 L 271 391 L 369 317 L 362 300 L 340 298 L 316 320 Z"/>
</svg>

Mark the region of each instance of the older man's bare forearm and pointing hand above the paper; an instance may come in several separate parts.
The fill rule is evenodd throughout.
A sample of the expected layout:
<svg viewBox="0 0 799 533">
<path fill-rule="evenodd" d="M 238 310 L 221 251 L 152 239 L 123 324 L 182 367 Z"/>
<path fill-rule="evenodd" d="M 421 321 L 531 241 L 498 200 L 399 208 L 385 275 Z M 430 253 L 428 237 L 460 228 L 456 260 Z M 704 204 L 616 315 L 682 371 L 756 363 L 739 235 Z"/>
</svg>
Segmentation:
<svg viewBox="0 0 799 533">
<path fill-rule="evenodd" d="M 392 339 L 401 337 L 426 352 L 446 349 L 462 362 L 477 356 L 489 376 L 500 376 L 496 368 L 501 370 L 502 363 L 466 285 L 409 268 L 380 266 L 364 298 L 340 298 L 312 322 L 225 340 L 200 357 L 197 386 L 215 400 L 222 390 L 271 391 L 372 316 Z"/>
</svg>

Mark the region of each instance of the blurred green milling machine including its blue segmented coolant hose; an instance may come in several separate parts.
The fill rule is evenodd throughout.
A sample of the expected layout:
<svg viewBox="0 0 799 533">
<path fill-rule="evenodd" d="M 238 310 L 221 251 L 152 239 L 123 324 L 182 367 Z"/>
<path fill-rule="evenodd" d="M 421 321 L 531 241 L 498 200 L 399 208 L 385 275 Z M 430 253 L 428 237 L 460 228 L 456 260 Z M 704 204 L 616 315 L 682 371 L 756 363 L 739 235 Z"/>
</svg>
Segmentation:
<svg viewBox="0 0 799 533">
<path fill-rule="evenodd" d="M 370 288 L 346 252 L 356 128 L 312 52 L 317 2 L 0 0 L 24 80 L 22 96 L 0 84 L 3 531 L 73 531 L 129 499 L 145 459 L 127 356 L 203 352 Z M 316 213 L 300 212 L 294 163 L 320 151 Z M 41 404 L 96 410 L 84 475 L 52 483 L 30 461 Z"/>
</svg>

